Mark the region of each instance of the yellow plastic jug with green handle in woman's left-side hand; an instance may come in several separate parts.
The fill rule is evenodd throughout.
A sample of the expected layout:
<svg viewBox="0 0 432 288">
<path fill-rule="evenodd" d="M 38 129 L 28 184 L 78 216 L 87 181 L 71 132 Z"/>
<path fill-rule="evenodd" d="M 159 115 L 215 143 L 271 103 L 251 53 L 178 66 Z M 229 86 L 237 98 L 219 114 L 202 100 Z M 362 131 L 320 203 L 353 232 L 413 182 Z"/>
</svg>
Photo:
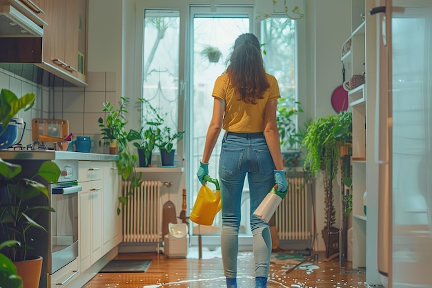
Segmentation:
<svg viewBox="0 0 432 288">
<path fill-rule="evenodd" d="M 206 182 L 212 182 L 216 186 L 216 192 L 207 186 Z M 197 200 L 193 204 L 190 220 L 201 225 L 211 225 L 215 215 L 222 209 L 221 192 L 219 182 L 216 179 L 204 176 L 204 184 L 199 189 Z"/>
</svg>

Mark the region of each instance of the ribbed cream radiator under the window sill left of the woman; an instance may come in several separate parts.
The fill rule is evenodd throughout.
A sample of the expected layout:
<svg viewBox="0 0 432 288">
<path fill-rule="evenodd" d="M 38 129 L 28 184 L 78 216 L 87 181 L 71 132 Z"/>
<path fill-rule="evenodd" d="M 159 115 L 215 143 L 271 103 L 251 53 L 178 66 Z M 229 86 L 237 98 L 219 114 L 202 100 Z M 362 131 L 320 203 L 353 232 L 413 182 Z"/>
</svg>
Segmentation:
<svg viewBox="0 0 432 288">
<path fill-rule="evenodd" d="M 122 183 L 124 197 L 123 242 L 154 242 L 159 246 L 160 187 L 159 181 L 143 181 L 141 186 L 127 196 L 130 182 Z"/>
</svg>

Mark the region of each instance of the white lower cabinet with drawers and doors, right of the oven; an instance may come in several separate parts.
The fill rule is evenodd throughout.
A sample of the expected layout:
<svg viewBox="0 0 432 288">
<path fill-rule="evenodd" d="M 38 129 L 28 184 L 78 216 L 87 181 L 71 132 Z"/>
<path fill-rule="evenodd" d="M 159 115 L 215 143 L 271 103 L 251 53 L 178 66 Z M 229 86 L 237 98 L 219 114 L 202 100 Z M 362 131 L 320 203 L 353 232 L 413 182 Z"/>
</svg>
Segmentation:
<svg viewBox="0 0 432 288">
<path fill-rule="evenodd" d="M 85 271 L 123 238 L 115 162 L 79 161 L 79 183 L 79 269 Z"/>
</svg>

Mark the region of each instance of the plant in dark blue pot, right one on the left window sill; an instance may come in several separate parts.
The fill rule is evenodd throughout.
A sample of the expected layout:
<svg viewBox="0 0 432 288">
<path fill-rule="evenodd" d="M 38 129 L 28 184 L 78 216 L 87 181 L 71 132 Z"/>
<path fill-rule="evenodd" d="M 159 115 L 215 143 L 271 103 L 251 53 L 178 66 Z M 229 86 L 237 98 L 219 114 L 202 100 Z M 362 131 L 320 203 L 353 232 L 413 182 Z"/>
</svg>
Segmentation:
<svg viewBox="0 0 432 288">
<path fill-rule="evenodd" d="M 156 146 L 161 151 L 162 166 L 174 165 L 175 149 L 173 149 L 173 146 L 175 143 L 183 139 L 183 134 L 184 131 L 173 133 L 171 128 L 168 126 L 165 126 L 159 131 L 159 135 L 157 135 Z"/>
</svg>

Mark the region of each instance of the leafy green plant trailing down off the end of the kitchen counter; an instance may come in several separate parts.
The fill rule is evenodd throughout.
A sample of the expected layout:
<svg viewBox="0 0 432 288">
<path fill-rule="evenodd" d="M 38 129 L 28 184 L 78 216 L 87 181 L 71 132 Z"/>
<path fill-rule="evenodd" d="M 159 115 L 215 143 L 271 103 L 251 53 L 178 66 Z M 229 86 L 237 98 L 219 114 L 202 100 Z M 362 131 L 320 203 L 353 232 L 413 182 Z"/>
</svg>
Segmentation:
<svg viewBox="0 0 432 288">
<path fill-rule="evenodd" d="M 126 130 L 126 114 L 128 113 L 127 105 L 130 99 L 128 97 L 121 97 L 119 108 L 116 109 L 110 102 L 104 102 L 104 112 L 107 113 L 106 121 L 100 117 L 98 119 L 99 127 L 103 135 L 102 140 L 109 140 L 111 143 L 117 143 L 117 161 L 116 166 L 121 180 L 130 180 L 130 192 L 127 195 L 119 196 L 119 205 L 126 204 L 127 198 L 132 195 L 132 191 L 141 184 L 142 173 L 136 173 L 136 164 L 138 161 L 137 155 L 130 151 L 130 142 L 134 142 L 141 138 L 141 135 L 130 129 Z M 101 145 L 101 142 L 99 142 Z M 117 214 L 120 214 L 120 207 L 117 207 Z"/>
</svg>

